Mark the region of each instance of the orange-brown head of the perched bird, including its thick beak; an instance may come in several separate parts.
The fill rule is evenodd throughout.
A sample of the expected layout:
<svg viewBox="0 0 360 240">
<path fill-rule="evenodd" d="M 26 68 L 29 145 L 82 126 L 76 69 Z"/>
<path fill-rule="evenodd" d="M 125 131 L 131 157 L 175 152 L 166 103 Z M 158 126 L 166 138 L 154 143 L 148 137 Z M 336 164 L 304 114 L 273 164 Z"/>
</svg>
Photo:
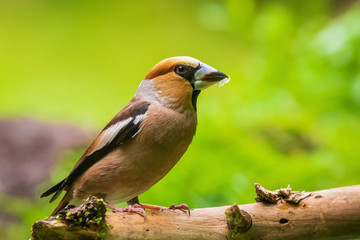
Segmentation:
<svg viewBox="0 0 360 240">
<path fill-rule="evenodd" d="M 201 90 L 228 77 L 192 57 L 171 57 L 160 61 L 141 82 L 136 97 L 180 111 L 196 110 Z"/>
</svg>

